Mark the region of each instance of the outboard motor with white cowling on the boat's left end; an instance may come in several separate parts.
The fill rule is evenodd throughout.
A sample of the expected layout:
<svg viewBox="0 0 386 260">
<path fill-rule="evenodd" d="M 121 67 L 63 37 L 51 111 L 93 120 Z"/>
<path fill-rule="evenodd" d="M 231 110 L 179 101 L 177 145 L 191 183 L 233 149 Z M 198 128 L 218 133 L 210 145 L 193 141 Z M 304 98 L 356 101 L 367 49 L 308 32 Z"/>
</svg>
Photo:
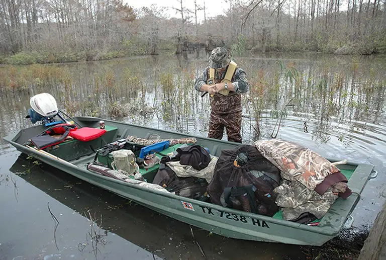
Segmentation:
<svg viewBox="0 0 386 260">
<path fill-rule="evenodd" d="M 56 100 L 48 93 L 41 93 L 30 99 L 31 108 L 28 109 L 28 116 L 33 124 L 42 122 L 46 126 L 52 126 L 67 122 L 59 113 Z M 60 118 L 59 121 L 54 119 L 55 116 Z"/>
</svg>

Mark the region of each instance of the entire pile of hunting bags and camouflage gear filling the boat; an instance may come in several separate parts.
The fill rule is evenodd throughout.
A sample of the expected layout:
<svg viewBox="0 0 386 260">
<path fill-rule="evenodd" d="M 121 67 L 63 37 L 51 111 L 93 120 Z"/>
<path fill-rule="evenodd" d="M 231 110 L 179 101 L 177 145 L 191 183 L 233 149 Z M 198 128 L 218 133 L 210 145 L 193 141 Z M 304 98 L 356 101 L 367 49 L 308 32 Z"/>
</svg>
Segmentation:
<svg viewBox="0 0 386 260">
<path fill-rule="evenodd" d="M 101 160 L 87 169 L 110 178 L 303 224 L 321 219 L 338 197 L 352 193 L 335 163 L 281 139 L 240 144 L 216 157 L 195 138 L 128 136 L 96 157 Z M 153 174 L 146 180 L 148 170 Z"/>
</svg>

